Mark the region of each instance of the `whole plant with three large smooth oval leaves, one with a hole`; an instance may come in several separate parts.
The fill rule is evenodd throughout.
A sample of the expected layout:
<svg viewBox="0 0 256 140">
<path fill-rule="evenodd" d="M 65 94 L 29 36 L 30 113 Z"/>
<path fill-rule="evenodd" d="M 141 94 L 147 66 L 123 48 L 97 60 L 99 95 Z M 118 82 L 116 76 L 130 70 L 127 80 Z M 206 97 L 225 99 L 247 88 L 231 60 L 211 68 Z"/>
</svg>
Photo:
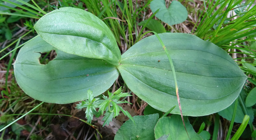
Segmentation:
<svg viewBox="0 0 256 140">
<path fill-rule="evenodd" d="M 16 80 L 29 96 L 60 104 L 84 100 L 88 89 L 93 96 L 106 91 L 120 72 L 132 92 L 152 107 L 166 112 L 177 105 L 171 67 L 156 36 L 139 41 L 121 56 L 99 18 L 70 7 L 46 14 L 35 30 L 40 37 L 21 48 L 14 63 Z M 212 114 L 236 99 L 247 77 L 225 51 L 189 34 L 159 36 L 171 50 L 184 115 Z M 57 57 L 40 64 L 40 53 L 53 49 Z"/>
</svg>

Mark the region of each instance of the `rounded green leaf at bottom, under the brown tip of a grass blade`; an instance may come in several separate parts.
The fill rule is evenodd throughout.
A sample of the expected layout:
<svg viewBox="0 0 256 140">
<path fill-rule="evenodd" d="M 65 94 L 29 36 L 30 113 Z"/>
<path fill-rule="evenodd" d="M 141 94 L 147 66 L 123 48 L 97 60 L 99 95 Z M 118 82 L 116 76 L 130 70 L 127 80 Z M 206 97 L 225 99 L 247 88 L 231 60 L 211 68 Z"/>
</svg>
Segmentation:
<svg viewBox="0 0 256 140">
<path fill-rule="evenodd" d="M 188 118 L 184 119 L 185 126 L 188 131 L 188 135 L 183 126 L 180 115 L 171 115 L 171 117 L 163 117 L 159 119 L 155 127 L 155 138 L 158 139 L 161 136 L 169 135 L 167 140 L 203 140 L 202 137 L 196 134 L 192 125 L 189 123 Z M 189 138 L 188 138 L 189 136 Z"/>
</svg>

